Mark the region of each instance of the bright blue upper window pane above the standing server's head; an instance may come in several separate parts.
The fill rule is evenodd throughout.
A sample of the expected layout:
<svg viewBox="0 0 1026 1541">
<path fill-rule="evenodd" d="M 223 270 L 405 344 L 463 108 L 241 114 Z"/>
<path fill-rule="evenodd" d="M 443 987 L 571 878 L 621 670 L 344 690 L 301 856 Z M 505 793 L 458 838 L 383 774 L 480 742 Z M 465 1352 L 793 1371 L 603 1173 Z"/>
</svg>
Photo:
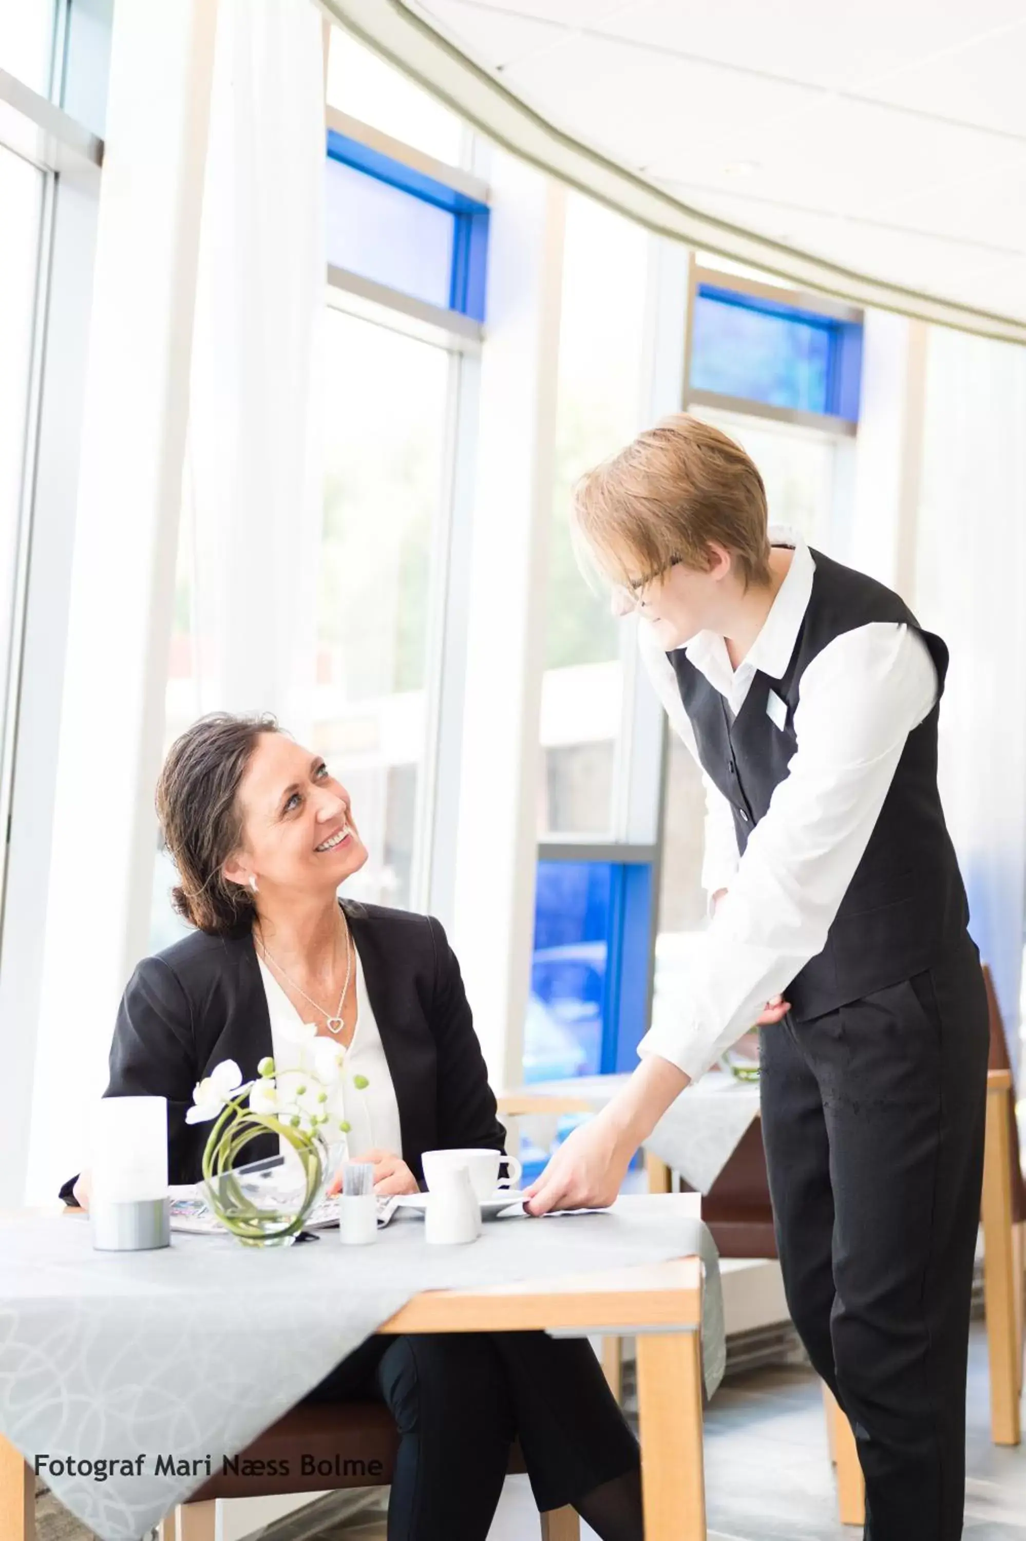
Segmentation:
<svg viewBox="0 0 1026 1541">
<path fill-rule="evenodd" d="M 835 336 L 826 319 L 738 304 L 702 288 L 692 325 L 690 382 L 770 407 L 832 411 Z"/>
</svg>

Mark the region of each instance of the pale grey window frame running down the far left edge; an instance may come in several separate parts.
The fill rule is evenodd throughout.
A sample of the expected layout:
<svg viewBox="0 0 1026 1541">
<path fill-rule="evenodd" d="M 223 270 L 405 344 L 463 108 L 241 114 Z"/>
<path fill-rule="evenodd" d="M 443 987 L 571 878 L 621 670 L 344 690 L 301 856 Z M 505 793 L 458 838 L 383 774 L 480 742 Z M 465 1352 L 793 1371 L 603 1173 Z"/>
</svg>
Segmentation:
<svg viewBox="0 0 1026 1541">
<path fill-rule="evenodd" d="M 6 1042 L 14 1094 L 0 1137 L 0 1194 L 11 1204 L 25 1197 L 32 1133 L 103 163 L 92 123 L 59 103 L 85 103 L 89 119 L 102 122 L 109 14 L 109 0 L 55 0 L 46 94 L 0 68 L 0 143 L 45 176 L 0 743 L 0 1020 L 28 1028 Z"/>
</svg>

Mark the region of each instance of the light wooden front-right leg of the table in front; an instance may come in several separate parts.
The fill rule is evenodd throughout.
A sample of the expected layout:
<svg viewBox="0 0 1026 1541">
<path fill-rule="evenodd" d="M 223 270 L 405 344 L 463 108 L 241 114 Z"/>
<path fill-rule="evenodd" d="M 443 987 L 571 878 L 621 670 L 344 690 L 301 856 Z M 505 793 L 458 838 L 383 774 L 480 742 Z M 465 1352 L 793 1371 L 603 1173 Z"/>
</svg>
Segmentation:
<svg viewBox="0 0 1026 1541">
<path fill-rule="evenodd" d="M 706 1541 L 698 1333 L 636 1339 L 645 1541 Z"/>
</svg>

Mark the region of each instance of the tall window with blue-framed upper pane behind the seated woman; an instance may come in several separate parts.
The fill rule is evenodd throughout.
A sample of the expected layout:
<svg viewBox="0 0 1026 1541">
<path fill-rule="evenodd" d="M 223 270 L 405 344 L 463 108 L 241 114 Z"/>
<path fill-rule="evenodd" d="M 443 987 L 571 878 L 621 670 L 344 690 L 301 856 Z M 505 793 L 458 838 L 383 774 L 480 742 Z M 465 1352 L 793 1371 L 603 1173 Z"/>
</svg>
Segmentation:
<svg viewBox="0 0 1026 1541">
<path fill-rule="evenodd" d="M 458 170 L 461 120 L 337 28 L 325 97 L 331 299 L 311 746 L 351 792 L 370 851 L 347 892 L 427 908 L 453 441 L 462 356 L 484 314 L 487 188 Z M 165 749 L 216 704 L 199 676 L 193 525 L 186 465 Z M 182 929 L 173 881 L 159 852 L 154 949 Z"/>
</svg>

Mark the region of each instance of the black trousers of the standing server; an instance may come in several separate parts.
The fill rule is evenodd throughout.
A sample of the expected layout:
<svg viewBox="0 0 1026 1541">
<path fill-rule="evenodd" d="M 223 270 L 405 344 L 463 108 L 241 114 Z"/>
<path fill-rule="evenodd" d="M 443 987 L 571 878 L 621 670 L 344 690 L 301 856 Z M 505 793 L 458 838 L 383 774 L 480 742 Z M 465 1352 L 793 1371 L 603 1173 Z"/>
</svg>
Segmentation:
<svg viewBox="0 0 1026 1541">
<path fill-rule="evenodd" d="M 855 1430 L 872 1541 L 957 1541 L 987 1005 L 966 935 L 815 1020 L 761 1028 L 787 1304 Z"/>
</svg>

